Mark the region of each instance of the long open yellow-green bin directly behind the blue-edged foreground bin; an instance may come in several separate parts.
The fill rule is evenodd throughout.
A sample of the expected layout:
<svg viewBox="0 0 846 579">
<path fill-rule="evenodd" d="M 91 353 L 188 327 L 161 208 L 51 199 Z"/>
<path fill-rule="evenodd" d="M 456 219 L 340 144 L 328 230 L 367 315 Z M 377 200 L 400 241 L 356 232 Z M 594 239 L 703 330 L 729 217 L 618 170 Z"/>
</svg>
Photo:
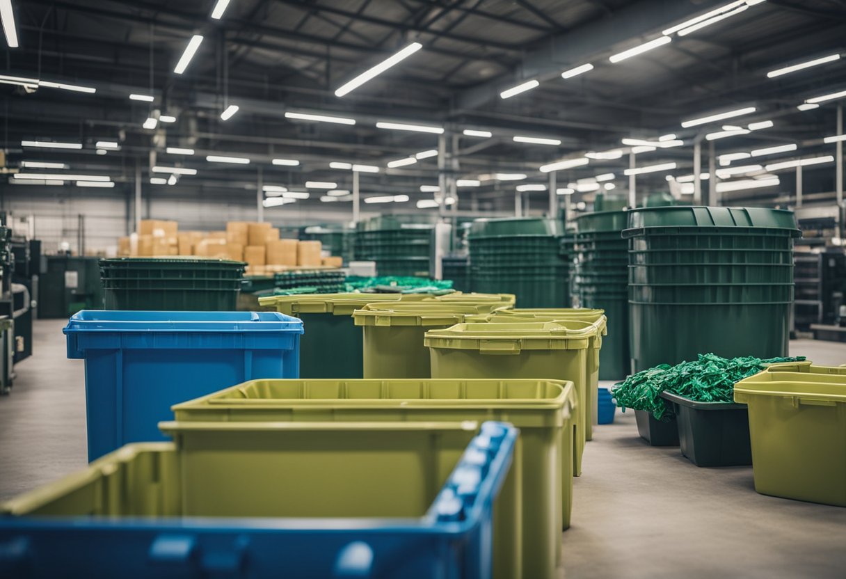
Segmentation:
<svg viewBox="0 0 846 579">
<path fill-rule="evenodd" d="M 494 511 L 495 568 L 503 579 L 531 579 L 555 576 L 559 532 L 569 527 L 570 420 L 577 404 L 573 383 L 552 380 L 254 380 L 175 405 L 173 411 L 182 424 L 511 422 L 520 437 Z M 499 547 L 515 543 L 522 556 Z"/>
</svg>

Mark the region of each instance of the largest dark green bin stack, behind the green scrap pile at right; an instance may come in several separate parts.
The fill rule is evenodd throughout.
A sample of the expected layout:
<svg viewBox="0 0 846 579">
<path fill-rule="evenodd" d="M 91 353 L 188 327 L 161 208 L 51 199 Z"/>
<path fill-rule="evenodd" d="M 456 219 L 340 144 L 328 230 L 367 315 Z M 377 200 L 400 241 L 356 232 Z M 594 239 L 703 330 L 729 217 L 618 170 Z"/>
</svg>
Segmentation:
<svg viewBox="0 0 846 579">
<path fill-rule="evenodd" d="M 787 356 L 793 246 L 800 235 L 793 212 L 777 209 L 630 211 L 623 236 L 632 371 L 709 352 Z"/>
</svg>

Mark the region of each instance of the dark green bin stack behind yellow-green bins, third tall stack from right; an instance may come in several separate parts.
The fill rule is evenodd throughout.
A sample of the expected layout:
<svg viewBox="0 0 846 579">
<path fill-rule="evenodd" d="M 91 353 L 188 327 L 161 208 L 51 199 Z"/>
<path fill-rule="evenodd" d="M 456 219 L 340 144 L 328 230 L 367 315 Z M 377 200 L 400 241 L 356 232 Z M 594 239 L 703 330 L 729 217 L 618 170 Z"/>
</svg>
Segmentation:
<svg viewBox="0 0 846 579">
<path fill-rule="evenodd" d="M 520 307 L 568 306 L 562 234 L 563 224 L 553 219 L 476 221 L 469 234 L 472 290 L 515 294 Z"/>
</svg>

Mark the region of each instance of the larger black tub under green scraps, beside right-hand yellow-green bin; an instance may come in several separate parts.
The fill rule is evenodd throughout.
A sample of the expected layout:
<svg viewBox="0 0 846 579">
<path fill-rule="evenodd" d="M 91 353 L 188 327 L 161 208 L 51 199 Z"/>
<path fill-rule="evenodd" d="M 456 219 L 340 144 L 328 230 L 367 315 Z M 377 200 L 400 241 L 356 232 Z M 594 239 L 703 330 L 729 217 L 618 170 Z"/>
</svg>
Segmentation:
<svg viewBox="0 0 846 579">
<path fill-rule="evenodd" d="M 661 397 L 675 409 L 678 443 L 690 462 L 696 466 L 752 464 L 745 404 L 697 402 L 669 392 Z"/>
</svg>

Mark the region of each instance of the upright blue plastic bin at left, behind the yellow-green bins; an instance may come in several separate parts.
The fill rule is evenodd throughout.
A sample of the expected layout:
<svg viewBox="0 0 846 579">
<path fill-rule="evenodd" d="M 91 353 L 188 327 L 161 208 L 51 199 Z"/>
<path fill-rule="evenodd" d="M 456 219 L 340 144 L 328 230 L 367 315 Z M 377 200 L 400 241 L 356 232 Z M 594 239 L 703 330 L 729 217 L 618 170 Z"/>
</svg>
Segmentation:
<svg viewBox="0 0 846 579">
<path fill-rule="evenodd" d="M 303 323 L 277 312 L 83 310 L 64 328 L 85 360 L 88 460 L 166 440 L 170 407 L 255 378 L 299 378 Z"/>
</svg>

